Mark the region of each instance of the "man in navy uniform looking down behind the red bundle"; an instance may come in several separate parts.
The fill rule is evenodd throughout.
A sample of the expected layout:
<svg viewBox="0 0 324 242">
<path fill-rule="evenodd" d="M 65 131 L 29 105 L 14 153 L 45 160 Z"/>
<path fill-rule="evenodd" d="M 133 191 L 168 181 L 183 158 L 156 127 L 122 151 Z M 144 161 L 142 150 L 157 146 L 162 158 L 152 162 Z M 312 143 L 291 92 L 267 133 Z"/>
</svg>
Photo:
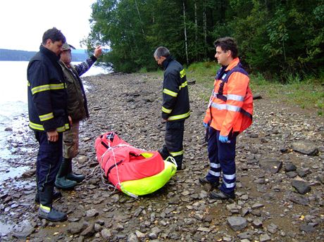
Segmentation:
<svg viewBox="0 0 324 242">
<path fill-rule="evenodd" d="M 168 156 L 173 157 L 177 170 L 181 170 L 184 154 L 183 132 L 185 120 L 190 116 L 187 76 L 185 69 L 170 56 L 166 47 L 158 47 L 154 58 L 164 69 L 162 118 L 166 120 L 166 136 L 165 144 L 158 152 L 164 160 Z"/>
</svg>

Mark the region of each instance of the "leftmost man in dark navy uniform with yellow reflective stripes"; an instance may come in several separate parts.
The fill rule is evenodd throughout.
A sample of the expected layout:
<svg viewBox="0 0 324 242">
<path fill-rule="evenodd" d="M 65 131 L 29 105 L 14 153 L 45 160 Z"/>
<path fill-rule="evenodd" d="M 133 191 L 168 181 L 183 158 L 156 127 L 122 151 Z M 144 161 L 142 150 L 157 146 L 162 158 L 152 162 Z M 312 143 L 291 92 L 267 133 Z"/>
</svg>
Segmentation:
<svg viewBox="0 0 324 242">
<path fill-rule="evenodd" d="M 58 64 L 66 37 L 53 27 L 44 32 L 39 52 L 27 68 L 28 113 L 30 128 L 39 143 L 37 155 L 38 216 L 50 221 L 63 221 L 66 213 L 52 208 L 54 182 L 62 160 L 63 132 L 70 129 L 67 115 L 67 92 L 63 71 Z"/>
</svg>

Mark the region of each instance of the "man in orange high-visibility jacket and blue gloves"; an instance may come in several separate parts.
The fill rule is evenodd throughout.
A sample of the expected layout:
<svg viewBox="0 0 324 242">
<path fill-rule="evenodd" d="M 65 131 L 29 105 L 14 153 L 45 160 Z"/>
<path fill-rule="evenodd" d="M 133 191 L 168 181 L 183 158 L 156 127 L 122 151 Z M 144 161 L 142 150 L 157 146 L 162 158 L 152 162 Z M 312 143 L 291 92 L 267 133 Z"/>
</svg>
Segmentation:
<svg viewBox="0 0 324 242">
<path fill-rule="evenodd" d="M 237 44 L 230 37 L 215 42 L 218 70 L 204 126 L 208 129 L 208 158 L 210 170 L 201 184 L 220 185 L 219 191 L 211 191 L 213 199 L 235 198 L 235 145 L 236 137 L 252 123 L 253 96 L 249 89 L 249 77 L 237 58 Z"/>
</svg>

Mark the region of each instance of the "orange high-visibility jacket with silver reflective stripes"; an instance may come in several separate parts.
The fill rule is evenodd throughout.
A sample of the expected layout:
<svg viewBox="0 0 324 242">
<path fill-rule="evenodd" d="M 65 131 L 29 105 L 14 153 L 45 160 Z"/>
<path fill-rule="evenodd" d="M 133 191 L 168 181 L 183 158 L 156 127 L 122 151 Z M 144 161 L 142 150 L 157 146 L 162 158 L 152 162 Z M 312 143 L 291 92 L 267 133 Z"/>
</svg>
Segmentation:
<svg viewBox="0 0 324 242">
<path fill-rule="evenodd" d="M 249 77 L 239 63 L 232 60 L 228 67 L 218 70 L 211 95 L 205 123 L 228 136 L 232 132 L 243 132 L 252 123 L 253 96 L 249 89 Z"/>
</svg>

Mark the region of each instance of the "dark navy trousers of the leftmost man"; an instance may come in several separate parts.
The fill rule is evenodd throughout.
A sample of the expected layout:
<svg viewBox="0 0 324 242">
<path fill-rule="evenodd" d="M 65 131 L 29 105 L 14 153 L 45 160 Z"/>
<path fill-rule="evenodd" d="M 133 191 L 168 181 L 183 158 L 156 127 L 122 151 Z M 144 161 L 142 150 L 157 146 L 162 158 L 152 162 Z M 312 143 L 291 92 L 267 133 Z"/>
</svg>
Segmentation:
<svg viewBox="0 0 324 242">
<path fill-rule="evenodd" d="M 35 136 L 39 143 L 36 168 L 37 191 L 43 191 L 44 187 L 52 190 L 62 162 L 63 133 L 58 133 L 56 142 L 49 141 L 46 132 L 35 131 Z"/>
</svg>

